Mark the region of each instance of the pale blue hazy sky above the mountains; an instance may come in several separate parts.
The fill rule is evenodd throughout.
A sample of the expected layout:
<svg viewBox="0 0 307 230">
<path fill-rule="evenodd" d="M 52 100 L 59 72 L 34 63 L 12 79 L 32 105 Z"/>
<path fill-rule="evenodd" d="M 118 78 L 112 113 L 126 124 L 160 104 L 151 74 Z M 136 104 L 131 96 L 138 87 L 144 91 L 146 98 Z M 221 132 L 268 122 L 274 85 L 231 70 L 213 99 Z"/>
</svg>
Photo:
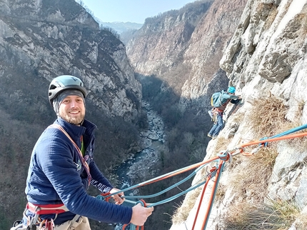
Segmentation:
<svg viewBox="0 0 307 230">
<path fill-rule="evenodd" d="M 180 9 L 196 0 L 82 0 L 94 16 L 104 22 L 136 22 L 143 24 L 146 18 L 159 13 Z"/>
</svg>

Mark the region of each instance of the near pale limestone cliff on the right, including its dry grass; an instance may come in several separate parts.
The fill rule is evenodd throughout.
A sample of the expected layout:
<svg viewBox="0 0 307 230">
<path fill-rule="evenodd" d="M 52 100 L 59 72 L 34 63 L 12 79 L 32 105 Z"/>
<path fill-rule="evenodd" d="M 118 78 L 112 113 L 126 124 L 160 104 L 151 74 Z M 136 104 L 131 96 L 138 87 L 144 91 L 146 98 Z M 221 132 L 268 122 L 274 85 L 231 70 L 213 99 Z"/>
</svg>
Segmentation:
<svg viewBox="0 0 307 230">
<path fill-rule="evenodd" d="M 287 130 L 287 124 L 306 124 L 306 3 L 305 0 L 248 0 L 241 21 L 220 61 L 221 69 L 226 71 L 228 79 L 236 86 L 245 103 L 228 119 L 218 139 L 210 141 L 205 159 L 216 156 L 221 151 L 223 141 L 227 143 L 223 148 L 231 150 L 264 135 L 281 133 Z M 192 89 L 196 87 L 197 84 L 191 84 Z M 266 107 L 265 102 L 273 98 L 278 99 L 278 102 Z M 261 107 L 266 109 L 258 114 L 259 123 L 253 124 L 251 118 L 258 113 L 255 110 L 257 103 L 263 103 Z M 274 108 L 279 108 L 276 109 L 275 117 L 268 117 Z M 279 119 L 283 124 L 274 123 Z M 261 125 L 268 129 L 268 133 L 264 130 L 260 133 L 255 131 Z M 276 154 L 272 168 L 260 164 L 257 169 L 263 173 L 270 171 L 264 184 L 254 184 L 253 181 L 257 181 L 256 174 L 248 174 L 249 160 L 235 156 L 235 162 L 223 171 L 218 199 L 213 204 L 206 229 L 278 229 L 279 220 L 270 222 L 271 216 L 286 209 L 288 204 L 293 204 L 296 212 L 286 214 L 288 217 L 293 215 L 293 218 L 288 225 L 283 222 L 283 229 L 306 229 L 305 144 L 306 139 L 298 139 L 294 142 L 278 141 L 276 145 L 269 146 L 271 154 L 266 157 Z M 265 156 L 257 154 L 251 157 L 258 159 L 255 163 L 262 162 Z M 242 181 L 245 186 L 238 189 L 236 185 Z M 203 205 L 208 204 L 208 196 L 206 193 Z M 191 202 L 188 197 L 191 195 L 188 194 L 183 206 Z M 181 224 L 176 223 L 171 229 L 191 228 L 198 201 L 199 197 L 187 219 Z M 278 210 L 268 212 L 262 222 L 258 219 L 258 226 L 251 225 L 256 224 L 255 216 L 259 216 L 263 210 L 270 210 L 267 207 L 277 201 L 282 204 Z M 245 225 L 231 227 L 229 223 L 233 221 L 238 224 L 236 220 L 246 212 L 246 207 L 250 208 L 250 215 L 249 219 L 243 221 Z M 203 212 L 201 216 L 204 216 Z M 200 226 L 200 223 L 196 224 L 196 229 L 201 229 Z"/>
</svg>

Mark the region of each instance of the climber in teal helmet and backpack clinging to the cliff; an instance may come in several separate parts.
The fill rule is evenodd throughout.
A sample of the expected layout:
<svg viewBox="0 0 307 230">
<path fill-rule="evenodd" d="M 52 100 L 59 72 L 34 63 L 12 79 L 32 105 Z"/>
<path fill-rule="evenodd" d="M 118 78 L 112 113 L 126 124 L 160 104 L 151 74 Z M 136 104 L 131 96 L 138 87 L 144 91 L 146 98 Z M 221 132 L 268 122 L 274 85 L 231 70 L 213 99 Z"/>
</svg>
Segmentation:
<svg viewBox="0 0 307 230">
<path fill-rule="evenodd" d="M 226 106 L 229 102 L 232 104 L 237 104 L 241 100 L 240 96 L 235 96 L 236 88 L 229 86 L 226 91 L 221 91 L 221 106 L 214 107 L 212 109 L 212 114 L 215 117 L 215 123 L 213 124 L 211 130 L 208 132 L 208 136 L 212 139 L 216 139 L 219 132 L 223 128 L 223 111 L 226 109 Z"/>
</svg>

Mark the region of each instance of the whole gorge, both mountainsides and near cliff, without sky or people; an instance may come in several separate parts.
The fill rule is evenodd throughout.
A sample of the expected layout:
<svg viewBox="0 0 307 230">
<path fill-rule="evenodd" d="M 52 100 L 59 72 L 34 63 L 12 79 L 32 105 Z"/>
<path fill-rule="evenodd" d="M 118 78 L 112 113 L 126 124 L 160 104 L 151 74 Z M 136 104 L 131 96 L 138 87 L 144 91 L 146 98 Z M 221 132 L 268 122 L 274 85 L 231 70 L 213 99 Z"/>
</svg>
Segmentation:
<svg viewBox="0 0 307 230">
<path fill-rule="evenodd" d="M 150 146 L 144 142 L 151 135 L 144 101 L 161 117 L 165 136 L 158 139 L 163 143 L 159 170 L 149 170 L 139 181 L 306 124 L 306 3 L 195 1 L 146 19 L 141 29 L 120 38 L 99 28 L 76 1 L 0 0 L 0 229 L 8 229 L 24 211 L 31 149 L 56 119 L 46 89 L 59 74 L 79 76 L 89 89 L 86 116 L 99 127 L 95 157 L 106 175 Z M 211 140 L 206 136 L 210 96 L 228 85 L 236 87 L 244 104 Z M 233 158 L 206 229 L 307 229 L 306 154 L 303 137 Z M 157 206 L 145 229 L 191 229 L 199 194 L 198 189 L 184 200 Z M 292 212 L 282 215 L 273 201 Z M 261 219 L 267 217 L 263 210 L 285 218 Z M 91 226 L 114 229 L 97 221 Z"/>
</svg>

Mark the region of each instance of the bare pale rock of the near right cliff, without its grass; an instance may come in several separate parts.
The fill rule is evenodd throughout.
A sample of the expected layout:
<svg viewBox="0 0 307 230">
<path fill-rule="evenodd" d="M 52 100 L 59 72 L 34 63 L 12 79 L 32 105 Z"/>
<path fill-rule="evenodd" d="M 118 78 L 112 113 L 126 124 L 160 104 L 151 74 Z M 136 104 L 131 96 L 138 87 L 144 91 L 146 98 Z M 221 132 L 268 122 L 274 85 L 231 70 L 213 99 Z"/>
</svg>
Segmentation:
<svg viewBox="0 0 307 230">
<path fill-rule="evenodd" d="M 234 115 L 221 131 L 219 138 L 228 139 L 230 142 L 226 149 L 234 149 L 239 144 L 258 138 L 251 131 L 248 116 L 249 113 L 255 112 L 250 111 L 254 100 L 261 100 L 270 95 L 277 96 L 288 106 L 285 118 L 289 122 L 306 124 L 306 3 L 305 0 L 247 2 L 241 21 L 220 61 L 221 69 L 226 71 L 233 86 L 236 86 L 239 94 L 247 102 L 250 102 L 238 109 L 238 115 Z M 229 136 L 229 133 L 233 135 Z M 285 204 L 296 204 L 301 210 L 301 217 L 297 215 L 289 229 L 306 229 L 306 224 L 302 223 L 306 219 L 304 215 L 307 206 L 307 151 L 306 148 L 301 148 L 304 140 L 297 143 L 300 144 L 295 146 L 283 141 L 276 144 L 274 151 L 278 156 L 266 188 L 255 185 L 255 188 L 251 189 L 246 186 L 246 191 L 240 194 L 233 187 L 232 178 L 238 175 L 236 171 L 246 170 L 246 160 L 238 162 L 232 169 L 223 171 L 219 189 L 225 194 L 213 204 L 206 229 L 227 229 L 225 221 L 236 218 L 228 213 L 238 201 L 243 206 L 259 205 L 254 198 L 257 189 L 264 189 L 263 194 L 267 194 L 267 198 L 280 199 Z M 205 159 L 216 156 L 218 144 L 221 144 L 218 139 L 210 141 Z M 243 180 L 247 176 L 253 179 L 253 176 L 245 175 L 237 180 Z M 204 204 L 208 204 L 209 195 L 205 194 Z M 183 202 L 183 205 L 187 202 L 188 200 Z M 262 202 L 268 204 L 266 200 Z M 180 230 L 192 226 L 196 208 L 197 204 L 185 223 L 177 223 L 171 229 Z"/>
</svg>

